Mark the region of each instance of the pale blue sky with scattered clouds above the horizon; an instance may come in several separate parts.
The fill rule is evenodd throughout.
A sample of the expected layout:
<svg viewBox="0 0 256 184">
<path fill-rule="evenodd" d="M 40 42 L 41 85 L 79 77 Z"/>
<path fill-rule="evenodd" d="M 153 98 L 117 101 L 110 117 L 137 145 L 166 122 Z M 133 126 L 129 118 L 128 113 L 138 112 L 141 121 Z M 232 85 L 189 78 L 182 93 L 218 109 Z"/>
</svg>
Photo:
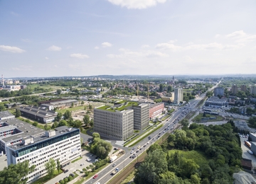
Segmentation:
<svg viewBox="0 0 256 184">
<path fill-rule="evenodd" d="M 255 74 L 255 0 L 0 0 L 0 74 Z"/>
</svg>

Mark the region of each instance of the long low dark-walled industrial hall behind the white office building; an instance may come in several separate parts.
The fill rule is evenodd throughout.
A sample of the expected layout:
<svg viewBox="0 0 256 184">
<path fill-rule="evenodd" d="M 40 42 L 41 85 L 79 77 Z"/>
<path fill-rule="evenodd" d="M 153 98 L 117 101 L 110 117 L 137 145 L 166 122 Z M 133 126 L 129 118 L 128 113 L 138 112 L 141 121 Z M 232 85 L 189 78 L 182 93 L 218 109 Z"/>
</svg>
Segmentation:
<svg viewBox="0 0 256 184">
<path fill-rule="evenodd" d="M 53 122 L 54 118 L 57 117 L 57 112 L 48 110 L 47 108 L 40 108 L 36 106 L 26 106 L 18 108 L 21 110 L 21 115 L 29 117 L 38 122 L 48 123 Z"/>
</svg>

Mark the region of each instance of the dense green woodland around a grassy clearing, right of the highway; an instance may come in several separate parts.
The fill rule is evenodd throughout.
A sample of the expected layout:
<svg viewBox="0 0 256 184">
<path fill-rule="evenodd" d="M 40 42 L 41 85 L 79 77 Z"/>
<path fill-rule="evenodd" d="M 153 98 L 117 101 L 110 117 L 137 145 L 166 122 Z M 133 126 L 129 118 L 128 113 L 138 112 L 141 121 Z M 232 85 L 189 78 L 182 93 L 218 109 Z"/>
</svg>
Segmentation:
<svg viewBox="0 0 256 184">
<path fill-rule="evenodd" d="M 233 122 L 192 124 L 169 134 L 164 144 L 153 144 L 135 173 L 134 183 L 233 183 L 240 171 L 240 138 Z"/>
</svg>

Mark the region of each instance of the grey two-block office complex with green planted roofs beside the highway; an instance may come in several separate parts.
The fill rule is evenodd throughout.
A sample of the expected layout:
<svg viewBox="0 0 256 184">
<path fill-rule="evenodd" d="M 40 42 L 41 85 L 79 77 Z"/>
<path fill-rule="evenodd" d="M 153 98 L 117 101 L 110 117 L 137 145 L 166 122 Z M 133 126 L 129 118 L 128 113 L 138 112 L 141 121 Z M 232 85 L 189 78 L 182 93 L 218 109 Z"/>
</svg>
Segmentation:
<svg viewBox="0 0 256 184">
<path fill-rule="evenodd" d="M 126 140 L 134 129 L 149 126 L 149 104 L 117 102 L 94 109 L 94 132 L 110 139 Z"/>
</svg>

